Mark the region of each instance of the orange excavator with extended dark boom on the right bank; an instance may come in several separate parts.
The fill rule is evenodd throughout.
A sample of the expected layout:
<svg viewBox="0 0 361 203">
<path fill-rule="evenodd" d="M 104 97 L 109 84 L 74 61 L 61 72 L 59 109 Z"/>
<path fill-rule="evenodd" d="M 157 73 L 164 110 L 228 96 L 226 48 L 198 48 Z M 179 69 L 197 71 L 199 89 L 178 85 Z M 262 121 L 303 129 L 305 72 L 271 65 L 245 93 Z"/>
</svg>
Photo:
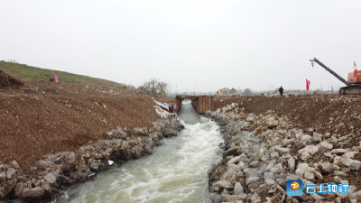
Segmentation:
<svg viewBox="0 0 361 203">
<path fill-rule="evenodd" d="M 321 61 L 317 60 L 316 58 L 313 58 L 313 60 L 310 60 L 311 62 L 317 62 L 319 66 L 321 66 L 323 69 L 326 69 L 331 73 L 333 76 L 338 78 L 341 82 L 346 84 L 346 87 L 342 87 L 339 89 L 339 94 L 341 95 L 352 95 L 352 94 L 361 94 L 361 70 L 357 71 L 354 67 L 354 71 L 348 73 L 347 81 L 340 77 L 336 72 L 334 72 L 332 69 L 329 69 L 329 67 L 325 66 Z"/>
</svg>

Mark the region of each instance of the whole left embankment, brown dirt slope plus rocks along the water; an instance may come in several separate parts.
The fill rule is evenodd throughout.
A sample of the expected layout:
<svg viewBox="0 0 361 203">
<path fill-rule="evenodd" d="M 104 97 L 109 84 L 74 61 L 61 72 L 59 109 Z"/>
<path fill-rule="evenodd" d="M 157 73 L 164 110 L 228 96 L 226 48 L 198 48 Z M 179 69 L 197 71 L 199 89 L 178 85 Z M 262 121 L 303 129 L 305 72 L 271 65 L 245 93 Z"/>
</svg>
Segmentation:
<svg viewBox="0 0 361 203">
<path fill-rule="evenodd" d="M 0 202 L 57 198 L 183 128 L 132 87 L 60 71 L 62 82 L 46 81 L 53 71 L 0 61 Z"/>
</svg>

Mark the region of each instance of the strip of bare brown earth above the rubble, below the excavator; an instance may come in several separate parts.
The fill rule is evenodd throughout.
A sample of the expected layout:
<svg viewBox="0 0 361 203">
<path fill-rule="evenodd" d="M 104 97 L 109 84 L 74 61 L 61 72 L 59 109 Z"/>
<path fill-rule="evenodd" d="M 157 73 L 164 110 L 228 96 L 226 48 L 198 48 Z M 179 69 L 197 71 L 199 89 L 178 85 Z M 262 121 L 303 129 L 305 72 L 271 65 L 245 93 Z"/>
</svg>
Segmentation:
<svg viewBox="0 0 361 203">
<path fill-rule="evenodd" d="M 264 114 L 268 110 L 286 115 L 302 129 L 321 134 L 361 135 L 359 95 L 303 95 L 290 97 L 216 97 L 215 109 L 238 103 L 246 113 Z"/>
</svg>

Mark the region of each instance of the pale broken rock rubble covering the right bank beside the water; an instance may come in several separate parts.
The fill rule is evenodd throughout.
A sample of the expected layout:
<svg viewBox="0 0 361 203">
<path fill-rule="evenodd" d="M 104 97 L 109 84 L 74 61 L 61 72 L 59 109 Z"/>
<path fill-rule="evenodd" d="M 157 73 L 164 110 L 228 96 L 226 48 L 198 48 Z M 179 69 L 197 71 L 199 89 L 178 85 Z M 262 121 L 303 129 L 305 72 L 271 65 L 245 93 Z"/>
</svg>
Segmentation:
<svg viewBox="0 0 361 203">
<path fill-rule="evenodd" d="M 212 202 L 361 202 L 355 134 L 318 134 L 273 111 L 246 114 L 238 104 L 207 115 L 220 125 L 226 148 L 223 161 L 208 171 Z M 302 180 L 303 195 L 287 196 L 287 180 Z M 306 194 L 306 184 L 321 183 L 348 184 L 349 191 Z"/>
</svg>

